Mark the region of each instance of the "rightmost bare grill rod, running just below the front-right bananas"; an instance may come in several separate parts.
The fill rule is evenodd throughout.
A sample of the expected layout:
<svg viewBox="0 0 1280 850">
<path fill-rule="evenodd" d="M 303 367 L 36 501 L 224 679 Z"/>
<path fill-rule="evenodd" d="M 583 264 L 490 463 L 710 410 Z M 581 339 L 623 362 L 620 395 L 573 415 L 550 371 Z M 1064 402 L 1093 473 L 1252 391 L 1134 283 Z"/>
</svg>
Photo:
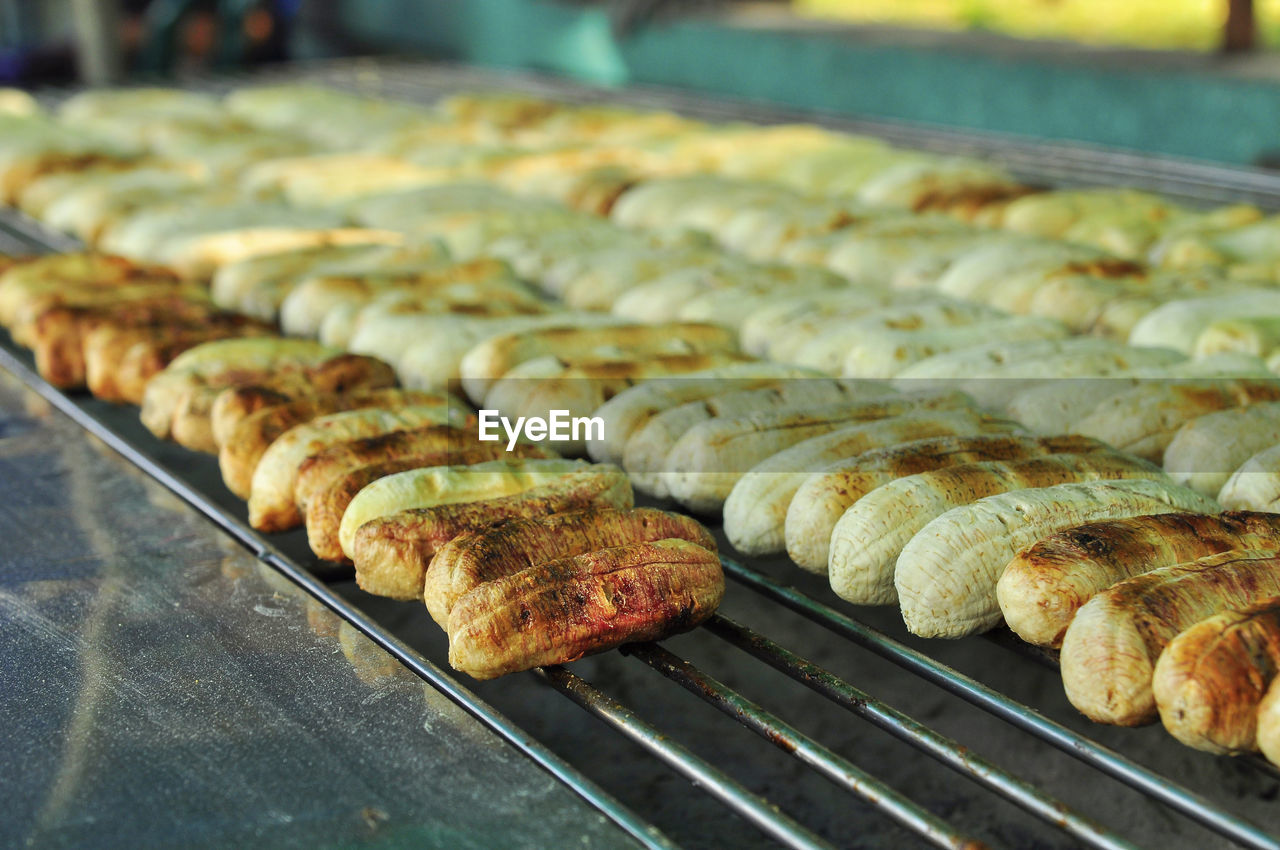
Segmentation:
<svg viewBox="0 0 1280 850">
<path fill-rule="evenodd" d="M 1107 776 L 1142 791 L 1147 796 L 1176 809 L 1192 821 L 1201 823 L 1219 835 L 1248 847 L 1260 850 L 1280 850 L 1280 838 L 1267 835 L 1257 826 L 1213 805 L 1203 796 L 1170 781 L 1167 777 L 1126 759 L 1115 750 L 1078 735 L 1061 723 L 1048 719 L 1021 703 L 987 687 L 964 673 L 933 661 L 928 655 L 904 646 L 892 638 L 864 626 L 835 608 L 800 593 L 795 588 L 780 584 L 763 572 L 742 566 L 731 558 L 721 558 L 724 572 L 736 581 L 751 588 L 762 595 L 778 602 L 791 611 L 824 626 L 846 638 L 863 649 L 870 650 L 893 662 L 904 670 L 955 694 L 968 703 L 982 708 L 1012 726 L 1029 732 L 1052 746 L 1074 755 L 1079 760 L 1096 767 Z"/>
</svg>

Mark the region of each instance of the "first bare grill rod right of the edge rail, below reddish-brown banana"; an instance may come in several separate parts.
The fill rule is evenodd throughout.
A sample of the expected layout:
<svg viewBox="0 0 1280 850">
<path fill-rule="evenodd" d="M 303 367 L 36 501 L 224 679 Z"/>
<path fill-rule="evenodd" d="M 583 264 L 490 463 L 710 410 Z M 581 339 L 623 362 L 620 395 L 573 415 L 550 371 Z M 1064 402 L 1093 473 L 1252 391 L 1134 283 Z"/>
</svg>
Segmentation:
<svg viewBox="0 0 1280 850">
<path fill-rule="evenodd" d="M 650 755 L 673 768 L 694 785 L 749 821 L 760 832 L 787 847 L 826 850 L 833 845 L 796 823 L 768 800 L 751 794 L 746 787 L 694 755 L 689 749 L 669 740 L 657 728 L 640 719 L 630 708 L 586 682 L 561 666 L 539 667 L 535 671 L 548 685 L 564 694 L 589 713 L 608 723 L 613 730 L 639 744 Z"/>
</svg>

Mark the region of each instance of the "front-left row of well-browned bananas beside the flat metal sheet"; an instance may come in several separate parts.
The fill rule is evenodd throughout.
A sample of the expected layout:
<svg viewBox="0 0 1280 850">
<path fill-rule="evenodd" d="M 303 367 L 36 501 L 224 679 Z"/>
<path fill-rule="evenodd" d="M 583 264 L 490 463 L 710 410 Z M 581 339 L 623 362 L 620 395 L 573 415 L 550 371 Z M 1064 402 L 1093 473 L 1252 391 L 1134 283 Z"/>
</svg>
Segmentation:
<svg viewBox="0 0 1280 850">
<path fill-rule="evenodd" d="M 397 388 L 374 357 L 265 325 L 183 335 L 189 314 L 174 303 L 207 301 L 155 269 L 74 255 L 5 266 L 0 321 L 35 346 L 42 375 L 106 388 L 140 403 L 157 438 L 218 453 L 253 527 L 305 522 L 316 554 L 355 562 L 366 590 L 424 599 L 436 576 L 425 599 L 461 671 L 488 678 L 659 639 L 719 603 L 713 538 L 691 518 L 632 509 L 616 466 L 479 440 L 470 406 Z M 127 294 L 140 285 L 156 292 Z"/>
</svg>

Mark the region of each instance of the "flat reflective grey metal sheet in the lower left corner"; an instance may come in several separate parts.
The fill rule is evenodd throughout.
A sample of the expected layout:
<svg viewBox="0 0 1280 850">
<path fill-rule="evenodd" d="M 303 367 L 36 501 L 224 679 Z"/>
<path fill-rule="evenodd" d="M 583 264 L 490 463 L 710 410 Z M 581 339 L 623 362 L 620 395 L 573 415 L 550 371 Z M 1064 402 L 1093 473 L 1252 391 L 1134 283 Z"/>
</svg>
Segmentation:
<svg viewBox="0 0 1280 850">
<path fill-rule="evenodd" d="M 0 845 L 635 846 L 0 371 Z"/>
</svg>

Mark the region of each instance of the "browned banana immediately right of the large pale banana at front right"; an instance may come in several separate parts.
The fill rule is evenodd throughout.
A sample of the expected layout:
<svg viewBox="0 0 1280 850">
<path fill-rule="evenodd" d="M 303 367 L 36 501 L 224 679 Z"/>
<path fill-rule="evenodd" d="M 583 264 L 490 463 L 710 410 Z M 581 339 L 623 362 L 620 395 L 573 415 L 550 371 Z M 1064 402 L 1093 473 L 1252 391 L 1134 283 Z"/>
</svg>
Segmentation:
<svg viewBox="0 0 1280 850">
<path fill-rule="evenodd" d="M 1023 640 L 1060 646 L 1075 612 L 1111 585 L 1229 549 L 1280 548 L 1280 515 L 1158 513 L 1064 529 L 1019 552 L 996 582 Z"/>
</svg>

